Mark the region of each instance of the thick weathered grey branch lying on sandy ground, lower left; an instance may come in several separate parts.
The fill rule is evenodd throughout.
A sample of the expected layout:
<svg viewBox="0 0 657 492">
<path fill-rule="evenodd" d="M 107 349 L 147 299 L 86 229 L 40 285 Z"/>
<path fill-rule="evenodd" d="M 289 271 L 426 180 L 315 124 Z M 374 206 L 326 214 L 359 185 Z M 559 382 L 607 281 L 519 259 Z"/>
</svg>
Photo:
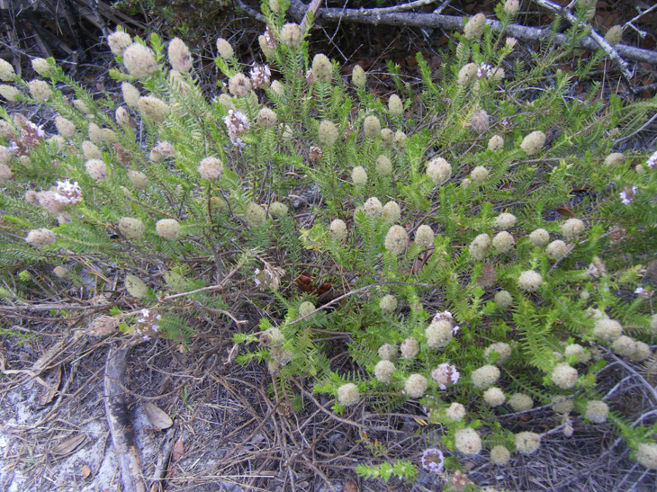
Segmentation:
<svg viewBox="0 0 657 492">
<path fill-rule="evenodd" d="M 139 449 L 130 425 L 128 407 L 125 403 L 123 378 L 128 362 L 127 347 L 112 347 L 105 362 L 105 416 L 112 434 L 116 459 L 121 467 L 121 484 L 124 492 L 146 492 L 146 483 L 141 473 Z"/>
</svg>

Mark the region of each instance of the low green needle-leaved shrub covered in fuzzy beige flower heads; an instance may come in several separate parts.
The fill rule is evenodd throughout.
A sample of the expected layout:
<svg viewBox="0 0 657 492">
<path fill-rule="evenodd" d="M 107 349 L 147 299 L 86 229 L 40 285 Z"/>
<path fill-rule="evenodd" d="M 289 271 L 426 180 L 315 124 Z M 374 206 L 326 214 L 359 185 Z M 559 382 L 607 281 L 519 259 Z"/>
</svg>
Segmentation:
<svg viewBox="0 0 657 492">
<path fill-rule="evenodd" d="M 604 100 L 592 83 L 573 96 L 574 77 L 588 84 L 602 56 L 571 73 L 555 68 L 584 35 L 581 26 L 567 31 L 565 49 L 545 40 L 530 64 L 516 61 L 512 70 L 513 45 L 486 30 L 481 41 L 458 36 L 437 76 L 418 55 L 419 101 L 393 76 L 404 114 L 392 115 L 336 64 L 330 81 L 309 74 L 303 36 L 288 31 L 286 40 L 283 11 L 263 10 L 275 41 L 267 61 L 281 76 L 271 85 L 235 58 L 216 58 L 230 94 L 209 101 L 193 72 L 169 69 L 166 42 L 153 34 L 135 40 L 153 49 L 152 73 L 112 76 L 157 97 L 164 118 L 143 99 L 96 99 L 60 69 L 48 77 L 46 104 L 74 125 L 71 135 L 44 139 L 0 113 L 12 129 L 3 143 L 16 144 L 13 179 L 0 195 L 3 297 L 26 300 L 41 279 L 79 288 L 90 275 L 95 289 L 123 294 L 125 278 L 137 277 L 146 287 L 130 292 L 138 310 L 112 312 L 135 343 L 161 336 L 186 344 L 198 330 L 220 329 L 215 315 L 244 316 L 232 311 L 245 305 L 261 321 L 254 333 L 235 335 L 237 360 L 266 362 L 275 392 L 288 395 L 292 378 L 309 378 L 315 392 L 336 398 L 336 412 L 356 404 L 341 398 L 352 385 L 351 397 L 374 400 L 375 409 L 419 399 L 429 422 L 450 430 L 443 444 L 454 469 L 457 430 L 476 428 L 485 448 L 513 443 L 515 429 L 497 418 L 508 408 L 484 403 L 490 385 L 475 372 L 482 366 L 499 365 L 491 384 L 536 406 L 557 394 L 579 409 L 599 398 L 596 377 L 613 340 L 596 331 L 598 318 L 636 327 L 626 332 L 640 342 L 654 334 L 654 277 L 645 272 L 657 250 L 657 171 L 644 152 L 609 156 L 641 131 L 657 99 Z M 26 102 L 41 103 L 17 85 Z M 74 93 L 90 116 L 55 87 Z M 119 105 L 131 121 L 117 121 Z M 221 169 L 204 168 L 207 157 Z M 64 180 L 79 185 L 81 200 L 67 201 Z M 287 209 L 274 212 L 275 201 Z M 513 223 L 502 223 L 504 212 Z M 172 220 L 175 230 L 166 229 Z M 420 237 L 419 226 L 430 234 Z M 538 228 L 565 243 L 563 254 L 536 241 Z M 67 267 L 68 280 L 52 273 L 56 265 Z M 500 291 L 510 305 L 496 299 Z M 386 295 L 394 302 L 382 302 Z M 508 357 L 487 353 L 491 344 L 508 344 Z M 595 356 L 566 355 L 572 344 Z M 554 376 L 564 361 L 573 380 Z M 446 367 L 460 378 L 447 377 Z M 452 403 L 467 416 L 450 420 Z M 302 404 L 292 398 L 295 411 Z M 652 432 L 611 415 L 633 446 Z M 356 470 L 386 480 L 418 473 L 408 461 Z"/>
</svg>

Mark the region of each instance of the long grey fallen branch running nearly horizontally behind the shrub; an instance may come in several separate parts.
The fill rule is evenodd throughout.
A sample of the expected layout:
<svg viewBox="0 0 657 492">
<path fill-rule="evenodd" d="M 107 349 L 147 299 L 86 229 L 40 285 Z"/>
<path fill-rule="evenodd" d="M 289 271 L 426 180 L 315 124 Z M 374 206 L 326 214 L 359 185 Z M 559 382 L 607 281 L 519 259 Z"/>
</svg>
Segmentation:
<svg viewBox="0 0 657 492">
<path fill-rule="evenodd" d="M 301 22 L 303 16 L 308 11 L 308 6 L 301 0 L 291 0 L 288 13 L 295 20 Z M 425 28 L 443 28 L 451 31 L 462 31 L 464 28 L 463 17 L 458 15 L 443 15 L 440 13 L 413 13 L 413 12 L 395 12 L 380 13 L 373 15 L 366 9 L 342 9 L 342 8 L 320 8 L 317 11 L 317 18 L 325 21 L 348 20 L 352 22 L 361 22 L 374 25 L 399 25 L 408 27 L 425 27 Z M 499 21 L 489 20 L 486 22 L 491 26 L 493 31 L 502 31 Z M 518 40 L 552 40 L 555 44 L 565 44 L 567 42 L 564 34 L 554 33 L 548 29 L 539 29 L 536 27 L 527 27 L 520 24 L 510 24 L 504 29 L 509 35 Z M 590 36 L 581 40 L 579 46 L 584 49 L 599 49 L 599 43 Z M 657 65 L 657 51 L 650 49 L 635 48 L 625 44 L 618 44 L 614 47 L 619 56 L 632 59 L 635 61 L 644 61 Z"/>
</svg>

